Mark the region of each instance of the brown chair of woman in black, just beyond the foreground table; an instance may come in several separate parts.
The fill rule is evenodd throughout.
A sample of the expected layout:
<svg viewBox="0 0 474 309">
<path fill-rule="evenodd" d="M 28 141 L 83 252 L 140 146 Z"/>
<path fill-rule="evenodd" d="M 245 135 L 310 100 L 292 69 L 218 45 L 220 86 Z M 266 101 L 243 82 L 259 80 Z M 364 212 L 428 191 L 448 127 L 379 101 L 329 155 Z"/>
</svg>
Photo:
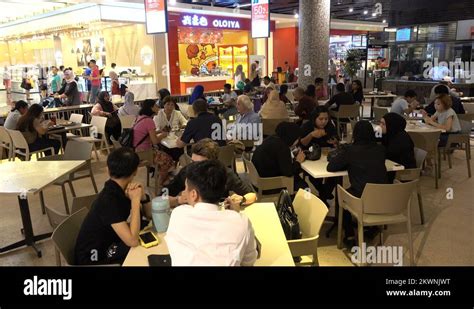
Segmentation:
<svg viewBox="0 0 474 309">
<path fill-rule="evenodd" d="M 271 200 L 276 202 L 279 196 L 279 192 L 275 194 L 263 194 L 264 190 L 273 190 L 273 189 L 283 189 L 286 188 L 290 195 L 293 195 L 293 177 L 285 177 L 285 176 L 278 176 L 278 177 L 260 177 L 258 175 L 257 169 L 252 161 L 247 160 L 245 157 L 242 157 L 245 167 L 248 171 L 248 175 L 250 178 L 250 183 L 254 186 L 257 190 L 257 197 L 259 201 L 262 199 Z"/>
</svg>

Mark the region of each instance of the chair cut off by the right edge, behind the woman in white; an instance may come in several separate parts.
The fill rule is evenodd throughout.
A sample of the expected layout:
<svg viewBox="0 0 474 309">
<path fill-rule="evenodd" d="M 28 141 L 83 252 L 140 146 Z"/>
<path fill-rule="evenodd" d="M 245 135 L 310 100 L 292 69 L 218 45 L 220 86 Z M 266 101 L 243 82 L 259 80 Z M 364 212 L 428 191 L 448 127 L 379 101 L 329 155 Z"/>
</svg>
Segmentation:
<svg viewBox="0 0 474 309">
<path fill-rule="evenodd" d="M 466 163 L 467 163 L 467 175 L 471 178 L 471 130 L 472 130 L 472 121 L 465 121 L 459 120 L 461 124 L 461 132 L 458 134 L 449 134 L 448 141 L 446 142 L 446 146 L 440 148 L 443 150 L 444 153 L 448 155 L 448 164 L 449 168 L 452 168 L 452 160 L 451 160 L 451 150 L 459 149 L 464 150 L 466 152 Z M 453 146 L 453 144 L 457 144 L 457 146 Z M 439 169 L 441 170 L 441 164 Z"/>
</svg>

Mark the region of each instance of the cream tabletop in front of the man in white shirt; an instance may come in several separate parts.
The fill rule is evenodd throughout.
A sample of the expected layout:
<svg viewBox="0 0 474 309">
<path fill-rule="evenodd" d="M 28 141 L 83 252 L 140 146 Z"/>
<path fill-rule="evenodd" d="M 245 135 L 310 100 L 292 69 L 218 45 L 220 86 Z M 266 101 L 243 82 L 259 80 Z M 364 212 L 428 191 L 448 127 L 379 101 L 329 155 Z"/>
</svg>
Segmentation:
<svg viewBox="0 0 474 309">
<path fill-rule="evenodd" d="M 273 203 L 255 203 L 243 210 L 252 222 L 255 236 L 262 245 L 260 258 L 255 266 L 295 266 L 288 242 L 278 219 Z M 148 266 L 148 255 L 168 254 L 164 240 L 165 233 L 158 234 L 160 244 L 146 249 L 142 246 L 131 248 L 123 266 Z"/>
</svg>

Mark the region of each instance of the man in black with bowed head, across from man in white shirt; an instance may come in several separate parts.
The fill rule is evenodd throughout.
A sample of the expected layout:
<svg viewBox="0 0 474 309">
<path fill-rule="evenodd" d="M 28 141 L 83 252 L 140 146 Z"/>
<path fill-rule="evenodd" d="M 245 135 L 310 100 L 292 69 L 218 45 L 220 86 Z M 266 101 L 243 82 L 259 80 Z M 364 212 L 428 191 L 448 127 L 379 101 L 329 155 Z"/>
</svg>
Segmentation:
<svg viewBox="0 0 474 309">
<path fill-rule="evenodd" d="M 217 160 L 219 155 L 219 146 L 216 142 L 212 141 L 209 138 L 200 140 L 199 142 L 193 144 L 192 147 L 192 160 L 194 162 L 205 161 L 205 160 Z M 239 203 L 242 206 L 247 206 L 254 203 L 257 200 L 257 195 L 250 187 L 250 185 L 243 182 L 240 177 L 234 173 L 230 168 L 227 170 L 227 183 L 226 183 L 226 196 L 230 192 L 234 192 L 229 198 L 229 202 Z M 168 189 L 168 195 L 170 200 L 171 207 L 176 207 L 178 205 L 185 204 L 187 201 L 181 192 L 185 189 L 185 180 L 186 180 L 186 167 L 182 168 L 178 175 L 173 178 L 170 184 L 166 187 Z"/>
</svg>

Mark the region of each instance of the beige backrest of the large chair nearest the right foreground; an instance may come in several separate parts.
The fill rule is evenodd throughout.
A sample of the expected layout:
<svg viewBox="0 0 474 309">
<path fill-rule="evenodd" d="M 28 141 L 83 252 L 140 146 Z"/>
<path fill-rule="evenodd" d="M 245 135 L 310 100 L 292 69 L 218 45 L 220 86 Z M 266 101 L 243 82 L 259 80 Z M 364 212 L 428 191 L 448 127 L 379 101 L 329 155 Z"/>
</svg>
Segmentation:
<svg viewBox="0 0 474 309">
<path fill-rule="evenodd" d="M 368 183 L 362 193 L 363 213 L 401 214 L 409 207 L 408 201 L 416 189 L 418 180 L 394 183 Z"/>
</svg>

